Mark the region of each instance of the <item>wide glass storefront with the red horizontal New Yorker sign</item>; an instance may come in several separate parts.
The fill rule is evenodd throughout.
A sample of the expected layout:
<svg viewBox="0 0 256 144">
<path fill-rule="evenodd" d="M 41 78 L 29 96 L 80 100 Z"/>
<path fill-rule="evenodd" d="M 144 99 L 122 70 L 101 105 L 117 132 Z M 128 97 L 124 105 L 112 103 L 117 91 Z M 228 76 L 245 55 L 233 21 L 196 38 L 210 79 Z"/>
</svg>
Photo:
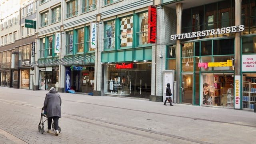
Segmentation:
<svg viewBox="0 0 256 144">
<path fill-rule="evenodd" d="M 105 64 L 104 94 L 149 98 L 151 62 Z"/>
</svg>

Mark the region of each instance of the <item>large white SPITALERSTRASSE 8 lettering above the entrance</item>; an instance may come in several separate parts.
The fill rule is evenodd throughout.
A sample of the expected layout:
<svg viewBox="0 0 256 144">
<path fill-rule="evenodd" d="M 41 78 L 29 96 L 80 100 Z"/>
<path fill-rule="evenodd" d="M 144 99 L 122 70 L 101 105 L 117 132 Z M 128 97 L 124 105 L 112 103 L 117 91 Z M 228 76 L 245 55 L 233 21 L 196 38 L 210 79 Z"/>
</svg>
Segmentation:
<svg viewBox="0 0 256 144">
<path fill-rule="evenodd" d="M 228 26 L 224 28 L 212 29 L 212 30 L 203 30 L 197 32 L 188 32 L 183 34 L 174 34 L 171 35 L 171 40 L 180 40 L 184 38 L 196 38 L 201 36 L 211 36 L 215 34 L 226 34 L 231 32 L 242 32 L 244 31 L 244 25 L 240 26 Z"/>
</svg>

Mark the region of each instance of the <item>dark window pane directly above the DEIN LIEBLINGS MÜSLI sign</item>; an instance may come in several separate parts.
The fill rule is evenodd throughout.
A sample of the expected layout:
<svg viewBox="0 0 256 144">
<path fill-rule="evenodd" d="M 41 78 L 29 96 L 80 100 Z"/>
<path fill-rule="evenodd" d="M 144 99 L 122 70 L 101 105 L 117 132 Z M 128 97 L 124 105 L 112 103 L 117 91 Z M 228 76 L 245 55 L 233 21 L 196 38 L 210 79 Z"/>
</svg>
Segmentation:
<svg viewBox="0 0 256 144">
<path fill-rule="evenodd" d="M 256 53 L 256 36 L 242 38 L 242 54 Z"/>
</svg>

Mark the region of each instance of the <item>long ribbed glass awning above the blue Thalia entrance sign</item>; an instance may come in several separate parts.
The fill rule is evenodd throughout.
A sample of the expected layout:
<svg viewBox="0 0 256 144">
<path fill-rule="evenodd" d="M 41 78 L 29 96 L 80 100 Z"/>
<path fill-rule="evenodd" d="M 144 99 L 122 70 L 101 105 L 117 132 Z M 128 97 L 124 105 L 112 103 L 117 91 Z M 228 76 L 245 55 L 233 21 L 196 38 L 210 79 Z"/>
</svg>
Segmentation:
<svg viewBox="0 0 256 144">
<path fill-rule="evenodd" d="M 31 63 L 31 67 L 34 66 L 58 66 L 58 65 L 74 65 L 74 64 L 94 64 L 95 54 L 81 54 L 64 56 L 61 59 L 39 59 L 36 62 Z"/>
</svg>

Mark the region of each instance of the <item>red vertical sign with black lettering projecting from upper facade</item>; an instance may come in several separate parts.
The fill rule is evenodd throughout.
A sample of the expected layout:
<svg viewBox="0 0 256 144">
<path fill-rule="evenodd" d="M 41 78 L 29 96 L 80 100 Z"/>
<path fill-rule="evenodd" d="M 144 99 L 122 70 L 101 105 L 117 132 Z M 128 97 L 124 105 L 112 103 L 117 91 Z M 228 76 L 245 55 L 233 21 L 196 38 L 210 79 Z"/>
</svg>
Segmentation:
<svg viewBox="0 0 256 144">
<path fill-rule="evenodd" d="M 156 43 L 156 7 L 148 6 L 148 43 Z"/>
</svg>

